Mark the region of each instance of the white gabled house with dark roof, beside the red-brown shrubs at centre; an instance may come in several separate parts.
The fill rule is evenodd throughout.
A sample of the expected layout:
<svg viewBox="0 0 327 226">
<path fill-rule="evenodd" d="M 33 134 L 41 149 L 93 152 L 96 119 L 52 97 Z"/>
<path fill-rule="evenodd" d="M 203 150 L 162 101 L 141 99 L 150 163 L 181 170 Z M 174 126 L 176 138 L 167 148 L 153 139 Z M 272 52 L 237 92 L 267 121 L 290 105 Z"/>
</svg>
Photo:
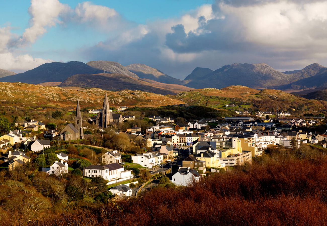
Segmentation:
<svg viewBox="0 0 327 226">
<path fill-rule="evenodd" d="M 195 169 L 180 168 L 173 176 L 171 182 L 177 186 L 186 186 L 198 181 L 201 175 Z"/>
</svg>

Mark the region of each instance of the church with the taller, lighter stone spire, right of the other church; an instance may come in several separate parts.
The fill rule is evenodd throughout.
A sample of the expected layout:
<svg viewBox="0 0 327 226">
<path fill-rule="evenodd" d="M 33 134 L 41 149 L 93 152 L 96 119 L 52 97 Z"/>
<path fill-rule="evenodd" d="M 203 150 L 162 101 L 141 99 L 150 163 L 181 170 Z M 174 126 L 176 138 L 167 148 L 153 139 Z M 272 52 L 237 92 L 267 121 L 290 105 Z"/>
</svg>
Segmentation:
<svg viewBox="0 0 327 226">
<path fill-rule="evenodd" d="M 102 112 L 98 113 L 95 119 L 96 125 L 104 129 L 110 127 L 117 127 L 123 121 L 124 120 L 122 114 L 112 113 L 110 111 L 108 96 L 106 93 L 103 100 Z"/>
</svg>

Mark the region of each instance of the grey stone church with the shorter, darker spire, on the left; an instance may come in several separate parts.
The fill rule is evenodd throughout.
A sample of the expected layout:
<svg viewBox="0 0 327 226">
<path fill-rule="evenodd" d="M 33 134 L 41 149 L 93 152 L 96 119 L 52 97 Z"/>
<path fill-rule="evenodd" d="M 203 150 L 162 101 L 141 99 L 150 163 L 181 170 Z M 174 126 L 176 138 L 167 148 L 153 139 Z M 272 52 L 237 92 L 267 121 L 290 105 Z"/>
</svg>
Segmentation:
<svg viewBox="0 0 327 226">
<path fill-rule="evenodd" d="M 75 126 L 72 123 L 66 125 L 66 127 L 60 132 L 61 140 L 77 140 L 84 139 L 82 115 L 79 106 L 79 100 L 77 100 L 76 114 L 75 114 Z"/>
</svg>

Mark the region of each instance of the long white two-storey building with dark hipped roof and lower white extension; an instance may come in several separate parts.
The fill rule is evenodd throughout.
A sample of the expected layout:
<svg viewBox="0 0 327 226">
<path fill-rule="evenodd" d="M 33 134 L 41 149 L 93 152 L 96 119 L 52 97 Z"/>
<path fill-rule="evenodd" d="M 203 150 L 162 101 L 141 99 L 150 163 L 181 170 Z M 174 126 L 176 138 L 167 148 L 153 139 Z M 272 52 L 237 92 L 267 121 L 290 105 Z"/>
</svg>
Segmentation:
<svg viewBox="0 0 327 226">
<path fill-rule="evenodd" d="M 90 165 L 83 169 L 85 177 L 102 177 L 108 180 L 108 184 L 117 183 L 123 180 L 128 180 L 133 177 L 132 170 L 124 170 L 124 167 L 118 163 L 107 165 Z"/>
</svg>

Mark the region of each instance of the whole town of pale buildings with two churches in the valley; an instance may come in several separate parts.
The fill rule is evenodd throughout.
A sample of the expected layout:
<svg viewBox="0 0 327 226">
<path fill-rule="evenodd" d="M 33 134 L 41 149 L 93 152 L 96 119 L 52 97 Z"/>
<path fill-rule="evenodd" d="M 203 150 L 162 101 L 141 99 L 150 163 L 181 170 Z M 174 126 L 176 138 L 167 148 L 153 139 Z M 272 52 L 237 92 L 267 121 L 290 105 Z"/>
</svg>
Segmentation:
<svg viewBox="0 0 327 226">
<path fill-rule="evenodd" d="M 14 121 L 0 137 L 1 175 L 22 169 L 59 181 L 75 175 L 83 177 L 86 190 L 102 187 L 95 200 L 129 198 L 156 186 L 191 185 L 208 174 L 251 164 L 267 150 L 327 144 L 327 132 L 314 129 L 325 124 L 321 113 L 296 118 L 291 112 L 245 111 L 179 122 L 167 115 L 125 114 L 127 106 L 113 111 L 106 94 L 102 109 L 83 109 L 83 120 L 78 100 L 76 105 L 62 129 L 54 123 L 58 111 L 47 123 Z"/>
</svg>

